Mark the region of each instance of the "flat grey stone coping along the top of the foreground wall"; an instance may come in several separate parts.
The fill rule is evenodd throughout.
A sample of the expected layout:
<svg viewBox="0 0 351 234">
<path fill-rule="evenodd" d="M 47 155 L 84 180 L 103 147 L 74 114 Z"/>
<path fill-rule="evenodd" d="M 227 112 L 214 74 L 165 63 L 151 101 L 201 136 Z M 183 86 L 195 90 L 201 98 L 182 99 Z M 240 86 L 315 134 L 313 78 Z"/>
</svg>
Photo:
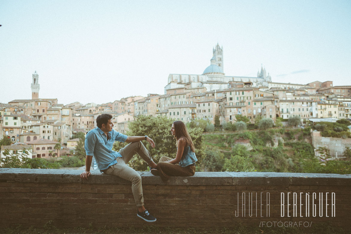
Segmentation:
<svg viewBox="0 0 351 234">
<path fill-rule="evenodd" d="M 82 170 L 0 168 L 0 182 L 131 184 L 118 176 L 91 171 L 88 180 Z M 351 175 L 281 172 L 196 172 L 194 176 L 171 177 L 164 183 L 150 172 L 139 172 L 143 185 L 320 185 L 351 186 Z"/>
</svg>

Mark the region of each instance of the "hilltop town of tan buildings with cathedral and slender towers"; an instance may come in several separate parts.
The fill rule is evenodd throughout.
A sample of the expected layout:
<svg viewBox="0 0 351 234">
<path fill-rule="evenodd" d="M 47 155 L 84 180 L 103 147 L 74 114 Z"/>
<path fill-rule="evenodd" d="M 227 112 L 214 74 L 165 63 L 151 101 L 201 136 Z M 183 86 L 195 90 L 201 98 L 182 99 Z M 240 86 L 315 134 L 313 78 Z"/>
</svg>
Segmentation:
<svg viewBox="0 0 351 234">
<path fill-rule="evenodd" d="M 113 116 L 116 131 L 126 133 L 128 123 L 139 115 L 160 116 L 189 122 L 206 119 L 214 123 L 235 122 L 236 115 L 251 123 L 258 116 L 289 119 L 350 119 L 351 86 L 333 86 L 332 81 L 307 84 L 272 82 L 261 67 L 257 77 L 227 76 L 223 66 L 223 47 L 213 48 L 213 57 L 203 74 L 170 74 L 164 94 L 129 96 L 102 104 L 73 102 L 63 105 L 57 98 L 39 97 L 39 74 L 32 74 L 32 98 L 0 103 L 0 140 L 7 137 L 17 150 L 32 148 L 33 158 L 55 156 L 61 143 L 74 149 L 78 132 L 96 127 L 102 113 Z M 108 101 L 108 100 L 107 100 Z M 333 120 L 333 119 L 331 119 Z"/>
</svg>

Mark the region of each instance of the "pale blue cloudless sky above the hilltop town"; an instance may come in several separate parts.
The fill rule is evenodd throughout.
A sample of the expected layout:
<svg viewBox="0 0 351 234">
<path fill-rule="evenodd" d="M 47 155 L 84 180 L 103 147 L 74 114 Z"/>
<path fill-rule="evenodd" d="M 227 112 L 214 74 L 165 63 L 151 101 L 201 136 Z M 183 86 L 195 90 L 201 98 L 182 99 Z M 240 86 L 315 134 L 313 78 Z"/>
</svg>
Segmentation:
<svg viewBox="0 0 351 234">
<path fill-rule="evenodd" d="M 164 93 L 170 73 L 351 85 L 351 1 L 7 1 L 0 4 L 0 102 L 106 103 Z"/>
</svg>

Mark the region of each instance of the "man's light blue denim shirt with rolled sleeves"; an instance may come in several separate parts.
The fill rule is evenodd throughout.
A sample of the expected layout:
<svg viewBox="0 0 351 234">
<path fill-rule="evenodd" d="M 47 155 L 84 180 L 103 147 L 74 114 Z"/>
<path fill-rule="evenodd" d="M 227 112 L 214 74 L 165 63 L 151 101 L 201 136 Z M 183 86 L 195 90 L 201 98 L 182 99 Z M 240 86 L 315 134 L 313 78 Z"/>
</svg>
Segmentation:
<svg viewBox="0 0 351 234">
<path fill-rule="evenodd" d="M 100 128 L 94 128 L 90 130 L 85 137 L 85 152 L 86 155 L 94 156 L 94 159 L 100 169 L 107 169 L 109 166 L 115 165 L 117 163 L 117 158 L 122 157 L 119 152 L 112 150 L 114 141 L 125 142 L 127 140 L 127 135 L 119 133 L 112 129 L 108 132 L 110 139 L 107 140 L 106 134 Z"/>
</svg>

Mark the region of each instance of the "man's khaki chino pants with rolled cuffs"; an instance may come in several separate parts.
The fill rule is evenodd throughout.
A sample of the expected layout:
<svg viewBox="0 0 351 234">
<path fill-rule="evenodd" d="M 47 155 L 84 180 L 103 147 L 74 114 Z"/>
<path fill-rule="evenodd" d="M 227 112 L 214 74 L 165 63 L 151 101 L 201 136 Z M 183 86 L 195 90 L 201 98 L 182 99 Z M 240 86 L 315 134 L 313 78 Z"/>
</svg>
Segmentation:
<svg viewBox="0 0 351 234">
<path fill-rule="evenodd" d="M 147 164 L 152 161 L 151 155 L 145 148 L 141 141 L 129 143 L 127 146 L 121 148 L 119 153 L 122 155 L 116 160 L 118 163 L 103 170 L 104 173 L 109 175 L 117 175 L 122 179 L 132 182 L 132 192 L 137 207 L 144 206 L 143 188 L 141 187 L 141 176 L 133 168 L 126 164 L 132 159 L 135 153 L 144 159 Z"/>
</svg>

